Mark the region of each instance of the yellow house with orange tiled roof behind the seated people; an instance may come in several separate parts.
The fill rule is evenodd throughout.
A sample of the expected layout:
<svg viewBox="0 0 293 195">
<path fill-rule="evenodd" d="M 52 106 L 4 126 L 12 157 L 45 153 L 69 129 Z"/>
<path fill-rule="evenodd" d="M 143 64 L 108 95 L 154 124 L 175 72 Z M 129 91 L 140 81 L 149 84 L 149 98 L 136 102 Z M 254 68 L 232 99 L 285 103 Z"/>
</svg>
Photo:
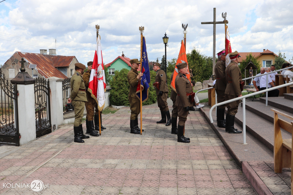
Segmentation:
<svg viewBox="0 0 293 195">
<path fill-rule="evenodd" d="M 271 67 L 271 65 L 275 63 L 275 57 L 278 57 L 277 54 L 268 49 L 263 49 L 263 52 L 239 52 L 239 54 L 241 56 L 239 58 L 239 63 L 245 60 L 246 56 L 252 54 L 253 57 L 260 61 L 262 67 Z"/>
</svg>

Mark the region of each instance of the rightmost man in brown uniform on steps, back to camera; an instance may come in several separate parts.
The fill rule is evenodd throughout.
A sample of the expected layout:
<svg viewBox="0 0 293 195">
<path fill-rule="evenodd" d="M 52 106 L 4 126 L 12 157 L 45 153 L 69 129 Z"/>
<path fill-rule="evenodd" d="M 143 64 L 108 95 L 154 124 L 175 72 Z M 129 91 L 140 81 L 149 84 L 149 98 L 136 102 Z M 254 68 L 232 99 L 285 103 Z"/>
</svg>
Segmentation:
<svg viewBox="0 0 293 195">
<path fill-rule="evenodd" d="M 227 86 L 225 90 L 226 100 L 231 100 L 237 97 L 241 97 L 241 89 L 239 83 L 242 81 L 241 71 L 238 67 L 238 58 L 240 55 L 237 51 L 229 54 L 231 63 L 226 67 L 226 81 Z M 234 119 L 235 114 L 237 113 L 240 100 L 230 102 L 227 104 L 227 114 L 226 114 L 226 131 L 228 130 L 229 134 L 239 134 L 242 131 L 238 131 L 234 128 Z"/>
</svg>

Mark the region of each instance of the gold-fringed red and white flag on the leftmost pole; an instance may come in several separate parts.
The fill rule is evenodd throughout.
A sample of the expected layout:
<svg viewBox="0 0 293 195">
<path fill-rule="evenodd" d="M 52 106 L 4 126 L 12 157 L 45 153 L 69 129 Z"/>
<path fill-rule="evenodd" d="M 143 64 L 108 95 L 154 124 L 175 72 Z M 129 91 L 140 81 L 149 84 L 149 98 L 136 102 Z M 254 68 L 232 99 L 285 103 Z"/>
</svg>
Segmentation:
<svg viewBox="0 0 293 195">
<path fill-rule="evenodd" d="M 98 109 L 102 111 L 105 106 L 106 81 L 100 36 L 98 36 L 95 57 L 93 58 L 88 91 L 91 93 L 91 97 L 98 103 Z"/>
</svg>

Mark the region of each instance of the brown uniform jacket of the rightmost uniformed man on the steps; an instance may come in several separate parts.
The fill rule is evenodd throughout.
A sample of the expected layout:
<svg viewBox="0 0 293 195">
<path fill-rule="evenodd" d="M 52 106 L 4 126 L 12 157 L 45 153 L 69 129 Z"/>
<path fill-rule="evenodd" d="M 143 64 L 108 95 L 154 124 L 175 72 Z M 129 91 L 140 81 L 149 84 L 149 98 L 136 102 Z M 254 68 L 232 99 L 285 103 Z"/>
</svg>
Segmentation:
<svg viewBox="0 0 293 195">
<path fill-rule="evenodd" d="M 236 62 L 231 62 L 225 70 L 227 86 L 225 94 L 228 95 L 241 95 L 241 89 L 239 83 L 242 81 L 241 71 Z"/>
</svg>

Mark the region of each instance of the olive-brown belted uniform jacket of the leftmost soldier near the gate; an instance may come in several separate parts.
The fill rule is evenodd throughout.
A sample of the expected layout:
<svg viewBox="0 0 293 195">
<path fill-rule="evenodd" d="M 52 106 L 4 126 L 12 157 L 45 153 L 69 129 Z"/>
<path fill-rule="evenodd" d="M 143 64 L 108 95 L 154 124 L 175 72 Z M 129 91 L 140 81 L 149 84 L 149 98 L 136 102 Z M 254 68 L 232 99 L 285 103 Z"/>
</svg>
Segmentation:
<svg viewBox="0 0 293 195">
<path fill-rule="evenodd" d="M 70 93 L 70 99 L 71 100 L 81 100 L 81 101 L 88 101 L 88 98 L 86 97 L 84 86 L 84 81 L 82 80 L 82 77 L 79 72 L 75 71 L 74 75 L 70 79 L 71 84 L 71 93 Z"/>
</svg>

